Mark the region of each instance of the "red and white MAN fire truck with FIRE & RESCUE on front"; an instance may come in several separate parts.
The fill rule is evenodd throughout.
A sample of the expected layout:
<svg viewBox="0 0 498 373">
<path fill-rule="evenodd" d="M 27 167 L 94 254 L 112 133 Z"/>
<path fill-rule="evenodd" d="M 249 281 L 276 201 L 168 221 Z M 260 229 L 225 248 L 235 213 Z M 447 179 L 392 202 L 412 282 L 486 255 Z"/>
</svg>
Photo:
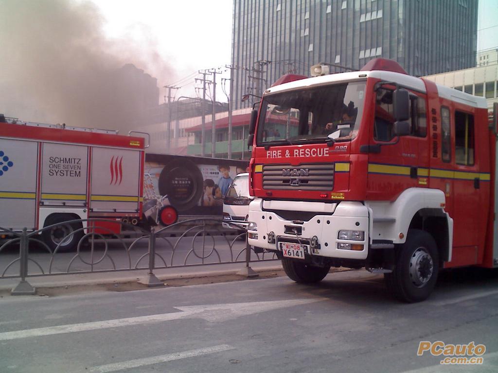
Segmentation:
<svg viewBox="0 0 498 373">
<path fill-rule="evenodd" d="M 253 110 L 249 245 L 297 282 L 331 266 L 383 273 L 408 302 L 429 296 L 441 268 L 497 267 L 497 115 L 490 125 L 485 98 L 390 60 L 322 69 L 280 78 Z"/>
</svg>

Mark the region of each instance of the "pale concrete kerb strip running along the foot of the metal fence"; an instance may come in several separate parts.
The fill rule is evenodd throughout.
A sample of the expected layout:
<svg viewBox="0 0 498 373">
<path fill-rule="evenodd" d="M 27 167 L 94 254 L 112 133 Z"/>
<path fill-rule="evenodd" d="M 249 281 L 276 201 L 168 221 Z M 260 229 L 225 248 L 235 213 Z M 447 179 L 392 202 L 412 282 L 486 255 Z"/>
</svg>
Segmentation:
<svg viewBox="0 0 498 373">
<path fill-rule="evenodd" d="M 161 270 L 155 270 L 154 275 L 161 281 L 173 279 L 193 279 L 205 277 L 217 277 L 236 275 L 237 272 L 246 267 L 245 263 L 228 263 L 213 264 L 204 266 L 187 266 L 173 267 Z M 254 262 L 250 267 L 255 272 L 281 271 L 280 261 Z M 48 275 L 39 277 L 27 277 L 28 281 L 34 287 L 64 287 L 64 286 L 81 286 L 81 285 L 102 285 L 113 283 L 137 282 L 147 277 L 148 271 L 117 271 L 91 274 L 65 274 L 65 275 Z M 241 278 L 243 278 L 241 276 Z M 0 291 L 10 291 L 20 281 L 20 278 L 0 279 Z"/>
</svg>

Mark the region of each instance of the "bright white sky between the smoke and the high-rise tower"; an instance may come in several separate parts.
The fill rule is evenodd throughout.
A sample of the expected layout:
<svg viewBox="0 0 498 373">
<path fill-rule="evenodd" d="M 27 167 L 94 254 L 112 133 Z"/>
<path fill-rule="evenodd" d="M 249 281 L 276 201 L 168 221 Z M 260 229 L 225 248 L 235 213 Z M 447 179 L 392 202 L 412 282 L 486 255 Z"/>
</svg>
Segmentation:
<svg viewBox="0 0 498 373">
<path fill-rule="evenodd" d="M 156 76 L 161 102 L 166 92 L 163 86 L 178 83 L 175 85 L 183 88 L 174 91 L 176 97 L 192 96 L 196 94 L 194 73 L 230 64 L 233 0 L 91 1 L 105 19 L 107 36 L 157 45 L 159 56 L 173 72 L 171 77 Z M 230 74 L 225 71 L 220 77 L 229 78 Z M 217 81 L 221 84 L 221 79 Z M 221 90 L 217 93 L 217 101 L 227 101 Z"/>
</svg>

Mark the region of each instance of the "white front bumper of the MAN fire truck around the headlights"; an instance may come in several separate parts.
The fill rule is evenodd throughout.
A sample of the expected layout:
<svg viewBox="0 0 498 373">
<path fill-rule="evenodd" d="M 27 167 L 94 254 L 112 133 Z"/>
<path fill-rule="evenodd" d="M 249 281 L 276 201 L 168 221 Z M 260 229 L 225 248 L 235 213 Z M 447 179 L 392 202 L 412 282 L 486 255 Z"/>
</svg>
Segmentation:
<svg viewBox="0 0 498 373">
<path fill-rule="evenodd" d="M 318 237 L 320 250 L 313 255 L 359 260 L 367 258 L 369 245 L 369 212 L 367 207 L 361 202 L 342 201 L 333 206 L 329 203 L 309 202 L 309 204 L 313 206 L 313 209 L 306 208 L 306 202 L 278 202 L 279 206 L 285 206 L 286 211 L 320 212 L 309 221 L 299 219 L 299 214 L 296 213 L 296 220 L 301 220 L 303 223 L 295 224 L 293 223 L 293 220 L 285 220 L 277 213 L 268 211 L 267 208 L 263 209 L 263 200 L 261 198 L 256 198 L 249 205 L 249 221 L 256 223 L 257 231 L 248 230 L 248 233 L 257 233 L 257 239 L 249 238 L 249 245 L 268 250 L 279 250 L 277 246 L 278 241 L 296 239 L 295 234 L 291 235 L 284 233 L 285 225 L 290 225 L 301 227 L 302 232 L 301 235 L 298 236 L 299 239 L 308 240 L 313 236 Z M 275 203 L 273 203 L 273 206 L 274 205 Z M 331 212 L 325 213 L 324 211 L 327 210 Z M 363 241 L 339 240 L 338 235 L 340 230 L 364 231 L 365 239 Z M 275 235 L 275 243 L 268 243 L 268 233 L 270 232 L 273 232 Z M 338 243 L 360 244 L 363 245 L 363 250 L 353 251 L 338 249 Z"/>
</svg>

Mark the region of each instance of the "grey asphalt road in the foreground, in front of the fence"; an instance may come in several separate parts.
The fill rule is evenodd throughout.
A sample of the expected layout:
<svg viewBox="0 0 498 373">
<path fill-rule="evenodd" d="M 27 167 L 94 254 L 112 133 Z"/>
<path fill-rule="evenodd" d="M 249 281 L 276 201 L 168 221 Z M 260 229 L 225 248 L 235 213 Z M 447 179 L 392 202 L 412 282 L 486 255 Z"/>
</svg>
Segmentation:
<svg viewBox="0 0 498 373">
<path fill-rule="evenodd" d="M 425 302 L 382 278 L 329 274 L 129 292 L 0 299 L 0 372 L 497 372 L 498 275 L 443 274 Z M 420 341 L 484 344 L 443 366 Z"/>
</svg>

